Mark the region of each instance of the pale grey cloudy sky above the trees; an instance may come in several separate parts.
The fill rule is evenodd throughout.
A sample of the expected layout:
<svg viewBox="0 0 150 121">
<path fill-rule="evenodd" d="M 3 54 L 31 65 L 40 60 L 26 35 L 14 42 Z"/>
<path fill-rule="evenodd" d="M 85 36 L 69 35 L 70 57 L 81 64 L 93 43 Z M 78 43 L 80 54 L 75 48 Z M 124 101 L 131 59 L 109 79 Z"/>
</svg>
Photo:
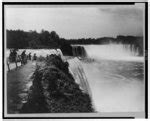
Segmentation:
<svg viewBox="0 0 150 121">
<path fill-rule="evenodd" d="M 66 39 L 143 35 L 144 6 L 11 6 L 5 7 L 5 28 L 56 31 Z"/>
</svg>

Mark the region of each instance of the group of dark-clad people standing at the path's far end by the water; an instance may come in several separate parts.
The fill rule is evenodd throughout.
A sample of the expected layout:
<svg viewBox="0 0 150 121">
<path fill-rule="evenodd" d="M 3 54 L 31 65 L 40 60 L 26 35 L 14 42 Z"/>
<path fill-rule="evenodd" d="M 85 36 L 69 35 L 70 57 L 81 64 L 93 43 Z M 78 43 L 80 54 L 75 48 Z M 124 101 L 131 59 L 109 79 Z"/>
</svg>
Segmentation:
<svg viewBox="0 0 150 121">
<path fill-rule="evenodd" d="M 31 53 L 26 54 L 26 50 L 24 50 L 20 55 L 17 52 L 17 49 L 11 49 L 9 54 L 9 62 L 21 62 L 21 65 L 26 64 L 27 60 L 36 60 L 36 54 L 33 55 L 33 59 Z"/>
</svg>

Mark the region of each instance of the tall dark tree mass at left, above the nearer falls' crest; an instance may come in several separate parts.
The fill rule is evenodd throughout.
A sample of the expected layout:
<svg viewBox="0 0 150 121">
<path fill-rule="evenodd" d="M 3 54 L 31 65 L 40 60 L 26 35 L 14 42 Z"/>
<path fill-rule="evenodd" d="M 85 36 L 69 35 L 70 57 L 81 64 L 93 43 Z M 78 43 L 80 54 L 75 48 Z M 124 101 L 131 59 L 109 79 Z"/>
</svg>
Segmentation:
<svg viewBox="0 0 150 121">
<path fill-rule="evenodd" d="M 60 48 L 63 54 L 72 55 L 72 47 L 64 38 L 60 38 L 55 31 L 41 30 L 36 31 L 7 30 L 7 48 L 16 49 L 56 49 Z"/>
</svg>

